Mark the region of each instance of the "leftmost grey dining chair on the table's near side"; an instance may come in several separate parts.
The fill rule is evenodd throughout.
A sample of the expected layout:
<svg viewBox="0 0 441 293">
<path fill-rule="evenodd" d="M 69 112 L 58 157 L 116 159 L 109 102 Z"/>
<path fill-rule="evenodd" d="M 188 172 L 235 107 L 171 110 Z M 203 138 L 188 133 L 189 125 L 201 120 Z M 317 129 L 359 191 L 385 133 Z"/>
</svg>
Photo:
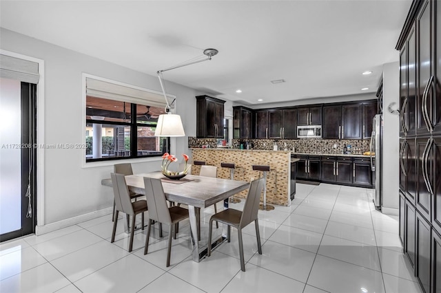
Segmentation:
<svg viewBox="0 0 441 293">
<path fill-rule="evenodd" d="M 110 173 L 110 177 L 112 177 L 112 186 L 116 205 L 116 215 L 115 221 L 113 223 L 112 240 L 110 242 L 113 243 L 115 241 L 116 225 L 118 224 L 119 212 L 123 212 L 125 213 L 125 215 L 131 215 L 132 225 L 130 226 L 129 252 L 132 252 L 133 235 L 135 232 L 135 218 L 138 214 L 142 215 L 142 227 L 144 230 L 144 212 L 147 211 L 147 201 L 141 199 L 137 200 L 136 202 L 132 202 L 129 194 L 129 188 L 127 188 L 127 184 L 125 183 L 124 174 Z"/>
</svg>

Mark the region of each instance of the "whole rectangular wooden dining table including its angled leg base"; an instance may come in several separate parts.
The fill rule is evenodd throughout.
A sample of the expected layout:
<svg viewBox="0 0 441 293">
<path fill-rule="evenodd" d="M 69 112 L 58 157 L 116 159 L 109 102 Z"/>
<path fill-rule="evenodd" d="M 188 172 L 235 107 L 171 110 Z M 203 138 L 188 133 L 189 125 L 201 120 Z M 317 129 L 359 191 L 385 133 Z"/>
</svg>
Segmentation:
<svg viewBox="0 0 441 293">
<path fill-rule="evenodd" d="M 192 259 L 201 261 L 207 254 L 207 246 L 217 246 L 225 241 L 223 235 L 214 239 L 212 243 L 201 243 L 198 240 L 198 209 L 207 208 L 223 201 L 249 187 L 249 182 L 229 180 L 216 177 L 204 177 L 199 175 L 186 175 L 180 180 L 172 180 L 165 177 L 160 171 L 152 173 L 139 173 L 125 176 L 125 182 L 130 191 L 145 195 L 143 177 L 161 179 L 165 197 L 170 202 L 185 204 L 188 206 L 189 226 L 192 239 Z M 112 186 L 110 178 L 101 180 L 104 186 Z M 225 229 L 224 229 L 225 230 Z"/>
</svg>

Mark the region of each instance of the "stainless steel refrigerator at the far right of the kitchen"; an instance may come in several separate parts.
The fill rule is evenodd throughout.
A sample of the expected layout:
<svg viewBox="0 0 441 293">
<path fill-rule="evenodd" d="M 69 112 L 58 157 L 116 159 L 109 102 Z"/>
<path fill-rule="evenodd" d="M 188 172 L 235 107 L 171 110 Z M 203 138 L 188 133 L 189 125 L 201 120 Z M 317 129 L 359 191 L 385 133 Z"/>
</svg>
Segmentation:
<svg viewBox="0 0 441 293">
<path fill-rule="evenodd" d="M 371 143 L 369 144 L 369 151 L 371 153 L 371 170 L 373 173 L 373 180 L 375 180 L 375 192 L 373 194 L 373 204 L 376 209 L 381 210 L 382 201 L 382 137 L 383 137 L 383 116 L 377 114 L 373 117 Z"/>
</svg>

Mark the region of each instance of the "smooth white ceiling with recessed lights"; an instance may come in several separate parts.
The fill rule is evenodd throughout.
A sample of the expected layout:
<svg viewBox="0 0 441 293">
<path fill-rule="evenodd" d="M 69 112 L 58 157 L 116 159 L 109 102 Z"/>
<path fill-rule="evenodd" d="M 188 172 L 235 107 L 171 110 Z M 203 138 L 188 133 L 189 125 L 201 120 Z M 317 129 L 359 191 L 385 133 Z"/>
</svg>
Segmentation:
<svg viewBox="0 0 441 293">
<path fill-rule="evenodd" d="M 398 61 L 394 47 L 410 6 L 410 0 L 2 0 L 0 26 L 153 76 L 216 48 L 212 61 L 163 78 L 256 106 L 376 91 L 382 65 Z M 362 75 L 367 70 L 373 73 Z M 279 79 L 286 82 L 270 82 Z"/>
</svg>

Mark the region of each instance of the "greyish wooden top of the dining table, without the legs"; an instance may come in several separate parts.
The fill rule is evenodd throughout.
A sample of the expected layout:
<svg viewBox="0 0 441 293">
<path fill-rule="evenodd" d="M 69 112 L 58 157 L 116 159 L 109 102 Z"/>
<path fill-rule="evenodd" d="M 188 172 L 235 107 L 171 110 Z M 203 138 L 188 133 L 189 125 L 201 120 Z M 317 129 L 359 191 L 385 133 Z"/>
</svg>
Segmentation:
<svg viewBox="0 0 441 293">
<path fill-rule="evenodd" d="M 171 202 L 206 208 L 249 187 L 249 182 L 198 175 L 186 175 L 181 180 L 169 180 L 161 172 L 140 173 L 125 176 L 130 191 L 145 194 L 143 177 L 161 179 L 165 196 Z M 112 180 L 103 179 L 101 184 L 112 186 Z"/>
</svg>

